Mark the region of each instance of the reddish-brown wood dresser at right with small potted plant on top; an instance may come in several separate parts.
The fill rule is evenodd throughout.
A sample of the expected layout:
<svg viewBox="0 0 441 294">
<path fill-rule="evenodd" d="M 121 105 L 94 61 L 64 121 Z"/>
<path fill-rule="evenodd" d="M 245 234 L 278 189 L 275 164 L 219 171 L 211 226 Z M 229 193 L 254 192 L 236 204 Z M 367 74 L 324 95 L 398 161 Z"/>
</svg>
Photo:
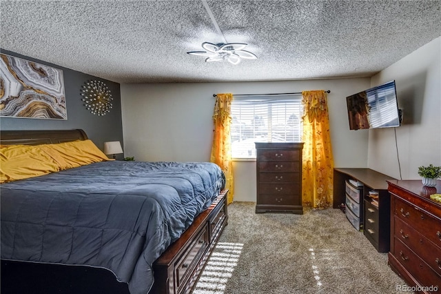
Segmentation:
<svg viewBox="0 0 441 294">
<path fill-rule="evenodd" d="M 391 193 L 391 249 L 388 262 L 418 293 L 441 292 L 441 193 L 421 180 L 388 181 Z M 438 189 L 437 189 L 438 188 Z"/>
</svg>

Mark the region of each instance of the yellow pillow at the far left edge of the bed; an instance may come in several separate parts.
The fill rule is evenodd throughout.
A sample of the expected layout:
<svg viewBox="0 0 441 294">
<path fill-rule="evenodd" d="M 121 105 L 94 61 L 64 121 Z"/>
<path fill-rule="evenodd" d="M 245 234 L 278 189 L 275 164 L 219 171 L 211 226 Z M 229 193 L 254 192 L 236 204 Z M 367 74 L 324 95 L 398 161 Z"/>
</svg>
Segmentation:
<svg viewBox="0 0 441 294">
<path fill-rule="evenodd" d="M 0 183 L 47 175 L 59 170 L 57 161 L 39 146 L 3 145 L 0 148 Z"/>
</svg>

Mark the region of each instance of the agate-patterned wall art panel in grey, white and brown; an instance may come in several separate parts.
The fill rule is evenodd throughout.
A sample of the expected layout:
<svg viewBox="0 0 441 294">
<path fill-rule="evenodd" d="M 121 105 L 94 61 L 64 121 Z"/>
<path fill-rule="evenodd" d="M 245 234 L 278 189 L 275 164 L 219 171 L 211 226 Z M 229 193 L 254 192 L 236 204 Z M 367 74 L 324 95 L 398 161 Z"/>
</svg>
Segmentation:
<svg viewBox="0 0 441 294">
<path fill-rule="evenodd" d="M 63 70 L 0 54 L 0 116 L 68 119 Z"/>
</svg>

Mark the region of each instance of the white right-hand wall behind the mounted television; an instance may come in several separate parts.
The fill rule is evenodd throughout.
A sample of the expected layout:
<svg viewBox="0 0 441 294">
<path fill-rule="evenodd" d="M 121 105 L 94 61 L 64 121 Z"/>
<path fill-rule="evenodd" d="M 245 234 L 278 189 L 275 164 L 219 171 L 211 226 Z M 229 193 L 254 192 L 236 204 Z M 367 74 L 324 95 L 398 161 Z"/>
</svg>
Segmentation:
<svg viewBox="0 0 441 294">
<path fill-rule="evenodd" d="M 396 179 L 420 179 L 418 166 L 441 166 L 440 43 L 441 37 L 372 77 L 371 86 L 396 80 L 404 119 L 397 140 L 393 128 L 369 130 L 369 168 Z"/>
</svg>

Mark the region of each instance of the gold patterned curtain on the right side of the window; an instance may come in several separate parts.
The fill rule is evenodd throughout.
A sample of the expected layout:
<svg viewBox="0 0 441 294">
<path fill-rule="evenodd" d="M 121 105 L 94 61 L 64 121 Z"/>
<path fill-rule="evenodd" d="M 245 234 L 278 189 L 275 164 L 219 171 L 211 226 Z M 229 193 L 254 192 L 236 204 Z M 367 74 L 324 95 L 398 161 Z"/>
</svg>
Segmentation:
<svg viewBox="0 0 441 294">
<path fill-rule="evenodd" d="M 332 206 L 334 159 L 329 135 L 327 95 L 324 90 L 302 92 L 303 165 L 302 204 L 324 209 Z"/>
</svg>

